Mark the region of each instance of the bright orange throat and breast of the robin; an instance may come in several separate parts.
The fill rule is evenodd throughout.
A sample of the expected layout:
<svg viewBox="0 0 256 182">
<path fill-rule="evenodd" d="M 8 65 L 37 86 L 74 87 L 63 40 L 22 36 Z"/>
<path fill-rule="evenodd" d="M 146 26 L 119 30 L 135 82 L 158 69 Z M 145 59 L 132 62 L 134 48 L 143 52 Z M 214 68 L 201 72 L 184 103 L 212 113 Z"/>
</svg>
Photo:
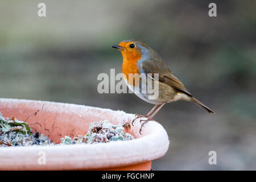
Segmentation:
<svg viewBox="0 0 256 182">
<path fill-rule="evenodd" d="M 138 54 L 137 52 L 123 52 L 122 51 L 122 56 L 123 56 L 123 67 L 122 67 L 122 72 L 124 78 L 126 78 L 126 81 L 130 84 L 135 86 L 135 78 L 133 80 L 129 81 L 129 73 L 135 74 L 135 73 L 140 73 L 139 68 L 137 66 L 138 60 L 141 59 L 141 54 Z"/>
</svg>

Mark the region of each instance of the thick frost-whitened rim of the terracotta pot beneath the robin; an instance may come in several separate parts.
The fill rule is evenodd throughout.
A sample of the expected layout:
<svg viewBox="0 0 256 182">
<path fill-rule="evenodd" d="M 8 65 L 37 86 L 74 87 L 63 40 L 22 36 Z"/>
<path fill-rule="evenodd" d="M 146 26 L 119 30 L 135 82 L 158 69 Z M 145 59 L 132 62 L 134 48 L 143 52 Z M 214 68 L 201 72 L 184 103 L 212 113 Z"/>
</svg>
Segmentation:
<svg viewBox="0 0 256 182">
<path fill-rule="evenodd" d="M 122 119 L 135 117 L 134 114 L 99 107 L 8 98 L 0 98 L 0 111 L 5 106 L 12 109 L 12 106 L 18 107 L 20 104 L 33 106 L 39 103 L 50 106 L 46 111 L 69 108 L 76 114 L 86 114 L 85 110 L 92 112 L 93 109 L 97 114 L 113 114 L 120 122 Z M 166 130 L 159 123 L 150 121 L 145 126 L 140 136 L 140 123 L 134 123 L 133 130 L 137 131 L 137 138 L 133 140 L 60 146 L 0 147 L 0 169 L 100 169 L 150 162 L 166 154 L 170 141 Z M 39 151 L 46 152 L 45 165 L 38 163 Z"/>
</svg>

